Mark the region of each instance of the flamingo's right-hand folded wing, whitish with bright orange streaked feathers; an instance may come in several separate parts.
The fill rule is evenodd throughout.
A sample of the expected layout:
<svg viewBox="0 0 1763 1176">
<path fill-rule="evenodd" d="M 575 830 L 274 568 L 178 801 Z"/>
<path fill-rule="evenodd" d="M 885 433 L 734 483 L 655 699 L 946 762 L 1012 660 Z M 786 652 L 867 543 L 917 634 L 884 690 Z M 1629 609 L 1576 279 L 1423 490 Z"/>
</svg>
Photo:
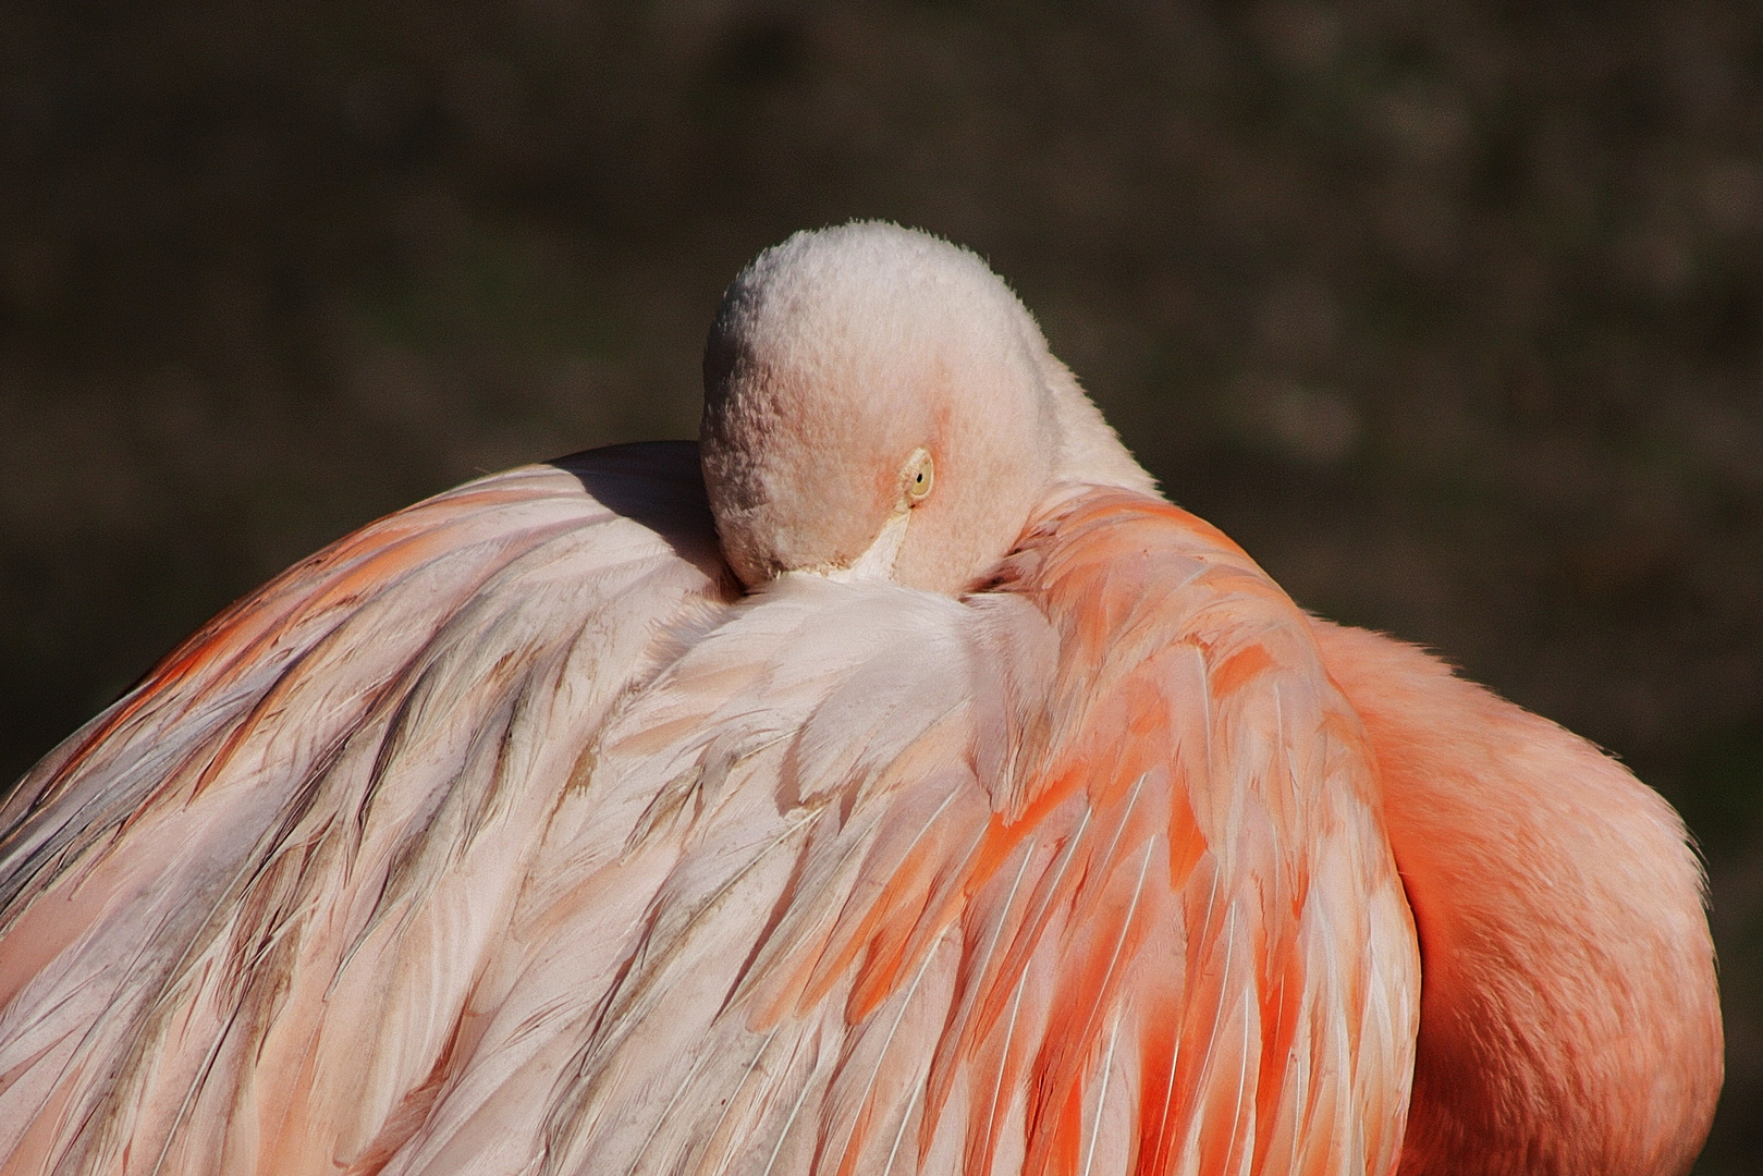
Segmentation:
<svg viewBox="0 0 1763 1176">
<path fill-rule="evenodd" d="M 388 1172 L 1389 1172 L 1417 1000 L 1358 719 L 1188 515 L 966 601 L 786 577 L 608 726 Z"/>
</svg>

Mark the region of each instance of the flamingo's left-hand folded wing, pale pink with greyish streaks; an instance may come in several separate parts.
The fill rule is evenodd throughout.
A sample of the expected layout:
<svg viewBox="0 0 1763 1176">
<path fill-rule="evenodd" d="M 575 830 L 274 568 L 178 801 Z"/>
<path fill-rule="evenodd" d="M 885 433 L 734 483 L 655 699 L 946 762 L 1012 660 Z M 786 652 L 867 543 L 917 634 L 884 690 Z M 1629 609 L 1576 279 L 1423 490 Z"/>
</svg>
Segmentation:
<svg viewBox="0 0 1763 1176">
<path fill-rule="evenodd" d="M 693 446 L 626 446 L 391 515 L 185 642 L 7 800 L 7 1171 L 395 1146 L 577 756 L 723 598 Z"/>
</svg>

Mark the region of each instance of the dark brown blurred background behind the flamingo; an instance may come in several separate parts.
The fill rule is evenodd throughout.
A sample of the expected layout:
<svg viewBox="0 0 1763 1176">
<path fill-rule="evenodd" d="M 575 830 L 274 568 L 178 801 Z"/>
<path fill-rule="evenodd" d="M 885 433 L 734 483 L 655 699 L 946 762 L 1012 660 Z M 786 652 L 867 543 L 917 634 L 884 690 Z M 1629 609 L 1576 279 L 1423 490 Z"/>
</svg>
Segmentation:
<svg viewBox="0 0 1763 1176">
<path fill-rule="evenodd" d="M 1675 800 L 1763 1157 L 1763 5 L 0 4 L 0 776 L 889 217 L 1169 494 Z"/>
</svg>

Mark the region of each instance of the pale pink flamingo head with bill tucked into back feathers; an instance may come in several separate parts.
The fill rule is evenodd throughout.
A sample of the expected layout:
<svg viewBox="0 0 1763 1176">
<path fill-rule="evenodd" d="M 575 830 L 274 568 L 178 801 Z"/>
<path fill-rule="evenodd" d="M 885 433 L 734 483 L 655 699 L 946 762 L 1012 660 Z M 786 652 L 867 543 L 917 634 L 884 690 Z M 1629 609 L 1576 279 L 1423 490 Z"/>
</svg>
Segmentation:
<svg viewBox="0 0 1763 1176">
<path fill-rule="evenodd" d="M 702 455 L 744 584 L 785 571 L 961 592 L 1061 483 L 1151 492 L 1010 287 L 892 224 L 797 233 L 723 294 Z"/>
</svg>

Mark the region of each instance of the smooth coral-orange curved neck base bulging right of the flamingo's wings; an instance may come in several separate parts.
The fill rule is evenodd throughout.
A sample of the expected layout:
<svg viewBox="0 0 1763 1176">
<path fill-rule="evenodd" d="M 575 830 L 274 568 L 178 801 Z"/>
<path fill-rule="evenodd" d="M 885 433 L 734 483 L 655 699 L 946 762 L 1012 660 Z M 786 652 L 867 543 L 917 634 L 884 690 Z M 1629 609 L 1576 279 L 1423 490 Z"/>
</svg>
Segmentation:
<svg viewBox="0 0 1763 1176">
<path fill-rule="evenodd" d="M 1684 823 L 1617 760 L 1419 649 L 1315 622 L 1421 933 L 1403 1176 L 1675 1176 L 1721 1093 Z"/>
</svg>

